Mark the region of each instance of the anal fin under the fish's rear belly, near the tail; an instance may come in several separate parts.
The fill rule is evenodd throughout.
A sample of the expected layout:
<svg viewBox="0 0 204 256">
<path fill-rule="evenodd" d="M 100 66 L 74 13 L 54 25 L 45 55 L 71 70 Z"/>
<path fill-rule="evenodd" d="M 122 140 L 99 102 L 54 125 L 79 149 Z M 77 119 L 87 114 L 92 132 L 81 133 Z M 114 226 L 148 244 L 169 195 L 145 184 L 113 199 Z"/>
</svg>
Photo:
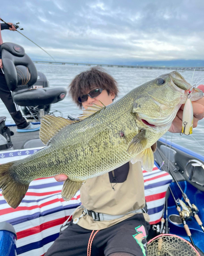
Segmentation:
<svg viewBox="0 0 204 256">
<path fill-rule="evenodd" d="M 72 197 L 75 196 L 75 194 L 77 193 L 77 191 L 81 188 L 82 184 L 85 181 L 72 181 L 72 180 L 65 180 L 64 185 L 62 187 L 62 198 L 65 201 L 69 201 L 70 199 L 72 199 Z"/>
</svg>

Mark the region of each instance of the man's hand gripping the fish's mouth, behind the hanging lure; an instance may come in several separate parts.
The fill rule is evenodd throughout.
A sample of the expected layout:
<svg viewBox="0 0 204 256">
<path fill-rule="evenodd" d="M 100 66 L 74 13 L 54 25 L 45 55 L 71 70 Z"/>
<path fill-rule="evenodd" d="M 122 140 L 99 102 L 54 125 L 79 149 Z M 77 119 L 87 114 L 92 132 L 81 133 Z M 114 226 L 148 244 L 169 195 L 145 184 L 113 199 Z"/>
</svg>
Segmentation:
<svg viewBox="0 0 204 256">
<path fill-rule="evenodd" d="M 200 84 L 198 88 L 204 92 L 204 85 Z M 200 119 L 204 118 L 204 97 L 197 101 L 192 102 L 193 105 L 193 127 L 197 126 L 197 123 Z M 180 110 L 177 112 L 176 117 L 174 118 L 169 132 L 171 133 L 180 133 L 182 130 L 182 118 L 183 118 L 184 104 L 181 106 Z"/>
</svg>

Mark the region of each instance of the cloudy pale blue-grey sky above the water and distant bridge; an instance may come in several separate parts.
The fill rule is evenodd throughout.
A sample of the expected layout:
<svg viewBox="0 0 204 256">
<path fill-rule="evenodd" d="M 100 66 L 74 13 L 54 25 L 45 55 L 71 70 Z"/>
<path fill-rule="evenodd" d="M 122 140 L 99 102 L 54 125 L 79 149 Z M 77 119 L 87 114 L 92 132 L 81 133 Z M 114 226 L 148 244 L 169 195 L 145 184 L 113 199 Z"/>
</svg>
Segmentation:
<svg viewBox="0 0 204 256">
<path fill-rule="evenodd" d="M 203 0 L 9 0 L 0 17 L 56 61 L 137 65 L 140 61 L 204 60 Z M 33 60 L 51 60 L 17 32 L 3 40 Z"/>
</svg>

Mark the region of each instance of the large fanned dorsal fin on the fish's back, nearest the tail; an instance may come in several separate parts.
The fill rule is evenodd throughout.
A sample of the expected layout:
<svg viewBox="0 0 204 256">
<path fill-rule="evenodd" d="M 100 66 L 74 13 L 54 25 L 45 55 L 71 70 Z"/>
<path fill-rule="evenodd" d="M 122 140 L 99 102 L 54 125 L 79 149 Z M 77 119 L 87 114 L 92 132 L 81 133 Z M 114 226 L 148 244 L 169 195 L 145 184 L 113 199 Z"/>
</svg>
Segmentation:
<svg viewBox="0 0 204 256">
<path fill-rule="evenodd" d="M 76 123 L 78 121 L 72 121 L 63 117 L 56 117 L 51 115 L 44 115 L 40 119 L 40 139 L 43 144 L 47 145 L 49 140 L 53 138 L 62 128 L 65 126 Z"/>
</svg>

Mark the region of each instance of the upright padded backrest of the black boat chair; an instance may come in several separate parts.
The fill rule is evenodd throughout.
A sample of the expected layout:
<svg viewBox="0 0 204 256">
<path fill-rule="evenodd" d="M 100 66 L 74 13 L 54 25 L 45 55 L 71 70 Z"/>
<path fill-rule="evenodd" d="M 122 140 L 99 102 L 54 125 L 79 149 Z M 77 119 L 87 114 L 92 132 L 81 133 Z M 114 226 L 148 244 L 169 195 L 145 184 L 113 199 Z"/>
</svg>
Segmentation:
<svg viewBox="0 0 204 256">
<path fill-rule="evenodd" d="M 21 46 L 4 42 L 1 52 L 7 86 L 11 91 L 25 84 L 31 87 L 37 81 L 36 67 Z"/>
</svg>

